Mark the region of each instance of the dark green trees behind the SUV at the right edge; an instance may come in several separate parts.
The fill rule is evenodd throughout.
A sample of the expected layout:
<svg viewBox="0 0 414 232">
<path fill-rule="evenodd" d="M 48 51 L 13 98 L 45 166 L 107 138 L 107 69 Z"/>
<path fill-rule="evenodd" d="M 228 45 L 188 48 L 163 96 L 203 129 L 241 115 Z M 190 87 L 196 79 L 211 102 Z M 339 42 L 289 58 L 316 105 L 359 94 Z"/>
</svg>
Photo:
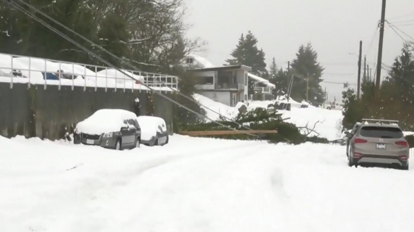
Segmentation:
<svg viewBox="0 0 414 232">
<path fill-rule="evenodd" d="M 402 54 L 397 56 L 385 81 L 380 88 L 381 101 L 374 96 L 375 83 L 362 82 L 360 101 L 355 96 L 344 94 L 344 128 L 350 129 L 352 123 L 362 118 L 399 120 L 399 125 L 406 130 L 414 129 L 414 62 L 411 47 L 404 45 Z M 347 90 L 349 92 L 349 90 Z M 346 93 L 346 92 L 344 92 Z M 355 95 L 355 94 L 354 94 Z"/>
</svg>

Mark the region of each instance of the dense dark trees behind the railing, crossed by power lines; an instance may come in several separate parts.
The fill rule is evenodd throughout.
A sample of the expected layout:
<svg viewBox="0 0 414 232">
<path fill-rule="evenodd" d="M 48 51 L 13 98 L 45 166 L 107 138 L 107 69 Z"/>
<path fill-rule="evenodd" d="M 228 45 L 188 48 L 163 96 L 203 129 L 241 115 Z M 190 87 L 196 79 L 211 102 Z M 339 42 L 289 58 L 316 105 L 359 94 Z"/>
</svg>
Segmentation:
<svg viewBox="0 0 414 232">
<path fill-rule="evenodd" d="M 181 0 L 30 0 L 28 3 L 147 72 L 170 70 L 189 50 L 200 45 L 197 40 L 185 38 L 186 24 L 182 19 L 186 11 Z M 0 52 L 103 65 L 7 1 L 0 1 L 0 15 Z M 72 33 L 61 32 L 110 63 L 127 67 Z M 180 52 L 180 46 L 184 52 Z"/>
</svg>

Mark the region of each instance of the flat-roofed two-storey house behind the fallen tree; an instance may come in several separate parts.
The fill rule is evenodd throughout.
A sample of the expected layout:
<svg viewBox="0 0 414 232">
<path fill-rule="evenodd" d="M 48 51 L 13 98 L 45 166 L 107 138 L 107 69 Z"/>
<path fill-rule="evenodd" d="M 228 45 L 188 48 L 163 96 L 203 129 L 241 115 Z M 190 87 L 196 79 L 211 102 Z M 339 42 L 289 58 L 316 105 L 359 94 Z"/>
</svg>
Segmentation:
<svg viewBox="0 0 414 232">
<path fill-rule="evenodd" d="M 188 69 L 193 73 L 198 93 L 229 106 L 248 99 L 248 74 L 251 67 L 228 65 Z"/>
</svg>

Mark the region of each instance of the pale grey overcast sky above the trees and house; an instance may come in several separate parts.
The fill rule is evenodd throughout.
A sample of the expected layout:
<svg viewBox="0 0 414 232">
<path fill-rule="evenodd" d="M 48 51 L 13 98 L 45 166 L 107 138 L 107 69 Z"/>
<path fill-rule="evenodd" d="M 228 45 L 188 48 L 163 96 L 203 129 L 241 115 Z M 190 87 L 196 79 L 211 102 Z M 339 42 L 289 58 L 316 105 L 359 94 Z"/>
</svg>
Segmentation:
<svg viewBox="0 0 414 232">
<path fill-rule="evenodd" d="M 367 63 L 376 63 L 381 0 L 186 0 L 190 38 L 208 42 L 200 55 L 214 65 L 229 58 L 242 33 L 251 30 L 266 52 L 270 66 L 275 57 L 279 67 L 295 58 L 299 45 L 311 42 L 326 68 L 325 81 L 357 83 L 359 41 Z M 413 0 L 388 0 L 386 19 L 414 37 Z M 413 24 L 413 25 L 406 25 Z M 402 26 L 404 25 L 404 26 Z M 400 33 L 402 34 L 402 33 Z M 409 40 L 408 36 L 404 39 Z M 400 54 L 402 39 L 386 26 L 383 63 L 392 65 Z M 353 54 L 350 54 L 353 53 Z M 374 74 L 374 70 L 372 71 Z M 386 74 L 382 70 L 382 74 Z M 328 98 L 340 99 L 342 84 L 323 83 Z"/>
</svg>

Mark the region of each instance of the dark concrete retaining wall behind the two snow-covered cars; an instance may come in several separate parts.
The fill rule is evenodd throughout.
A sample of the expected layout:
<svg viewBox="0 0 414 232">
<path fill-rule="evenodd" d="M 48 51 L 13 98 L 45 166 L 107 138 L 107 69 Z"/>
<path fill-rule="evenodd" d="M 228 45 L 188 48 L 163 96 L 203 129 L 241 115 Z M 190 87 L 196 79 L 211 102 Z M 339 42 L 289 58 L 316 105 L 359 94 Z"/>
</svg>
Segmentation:
<svg viewBox="0 0 414 232">
<path fill-rule="evenodd" d="M 171 94 L 166 94 L 171 96 Z M 135 98 L 139 98 L 141 115 L 154 112 L 154 116 L 164 118 L 169 131 L 172 131 L 173 105 L 157 94 L 153 96 L 153 109 L 148 109 L 150 94 L 131 89 L 75 87 L 14 83 L 0 83 L 0 135 L 13 137 L 39 137 L 55 140 L 63 138 L 64 127 L 75 127 L 98 109 L 126 109 L 135 112 Z"/>
</svg>

